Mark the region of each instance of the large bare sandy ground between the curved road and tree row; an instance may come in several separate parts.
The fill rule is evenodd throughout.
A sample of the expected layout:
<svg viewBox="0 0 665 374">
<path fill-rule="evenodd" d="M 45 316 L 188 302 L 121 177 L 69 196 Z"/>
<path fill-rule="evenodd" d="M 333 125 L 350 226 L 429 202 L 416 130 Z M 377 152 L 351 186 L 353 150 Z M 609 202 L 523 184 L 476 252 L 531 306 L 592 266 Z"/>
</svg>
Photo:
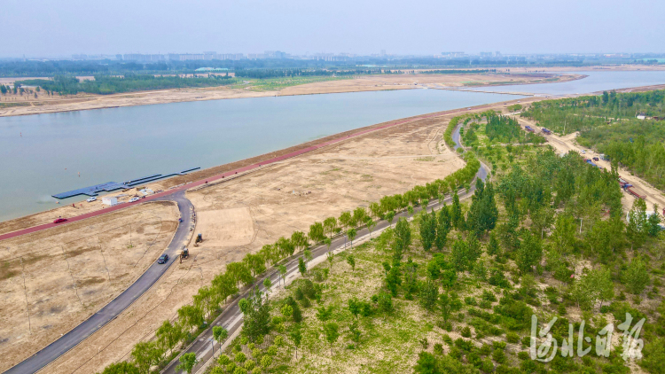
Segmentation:
<svg viewBox="0 0 665 374">
<path fill-rule="evenodd" d="M 500 108 L 502 105 L 494 105 Z M 206 241 L 175 264 L 128 310 L 45 372 L 88 373 L 129 358 L 153 331 L 230 261 L 294 230 L 380 197 L 449 175 L 464 163 L 442 143 L 454 114 L 414 121 L 272 165 L 187 196 L 196 206 L 196 232 Z M 311 193 L 309 193 L 311 191 Z"/>
</svg>

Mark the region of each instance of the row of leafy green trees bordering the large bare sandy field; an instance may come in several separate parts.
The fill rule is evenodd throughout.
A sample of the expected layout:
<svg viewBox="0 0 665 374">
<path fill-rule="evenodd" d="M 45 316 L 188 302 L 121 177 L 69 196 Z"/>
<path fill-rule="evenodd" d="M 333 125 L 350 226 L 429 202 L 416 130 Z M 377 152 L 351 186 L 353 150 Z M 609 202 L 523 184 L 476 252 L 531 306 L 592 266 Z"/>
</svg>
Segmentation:
<svg viewBox="0 0 665 374">
<path fill-rule="evenodd" d="M 376 219 L 385 219 L 392 223 L 395 214 L 400 211 L 407 210 L 412 213 L 413 206 L 426 206 L 430 199 L 443 199 L 447 193 L 457 196 L 458 188 L 460 186 L 468 188 L 468 183 L 473 180 L 479 168 L 480 162 L 469 154 L 465 168 L 444 179 L 427 183 L 425 186 L 417 185 L 403 194 L 386 196 L 379 202 L 370 204 L 368 209 L 358 207 L 353 212 L 342 212 L 339 217 L 328 217 L 324 222 L 314 222 L 309 226 L 308 233 L 295 231 L 290 238 L 278 238 L 274 244 L 263 245 L 257 253 L 247 253 L 242 261 L 227 264 L 226 270 L 215 276 L 211 284 L 200 288 L 193 296 L 191 304 L 179 308 L 175 322 L 164 321 L 155 331 L 154 340 L 137 343 L 131 351 L 130 362 L 114 363 L 106 368 L 104 374 L 118 372 L 115 370 L 120 370 L 119 368 L 136 369 L 137 373 L 148 374 L 154 366 L 164 367 L 176 355 L 176 347 L 186 347 L 189 342 L 196 339 L 200 332 L 206 329 L 207 323 L 219 316 L 222 306 L 228 300 L 236 297 L 242 287 L 254 284 L 255 279 L 261 277 L 269 267 L 277 268 L 281 277 L 280 282 L 286 282 L 286 266 L 283 262 L 295 253 L 301 253 L 298 259 L 299 269 L 304 273 L 307 261 L 311 259 L 310 245 L 317 243 L 331 245 L 332 236 L 342 231 L 345 231 L 348 238 L 353 241 L 359 227 L 366 226 L 372 230 Z M 264 284 L 270 287 L 270 279 L 267 278 L 267 283 Z M 242 334 L 252 342 L 257 342 L 264 335 L 267 325 L 265 318 L 268 301 L 263 303 L 260 300 L 262 298 L 259 293 L 250 292 L 248 298 L 239 301 L 239 306 L 246 315 Z M 226 334 L 219 329 L 217 331 L 221 334 L 219 337 L 225 339 Z M 188 356 L 184 360 L 190 359 Z M 192 363 L 191 367 L 194 364 Z"/>
</svg>

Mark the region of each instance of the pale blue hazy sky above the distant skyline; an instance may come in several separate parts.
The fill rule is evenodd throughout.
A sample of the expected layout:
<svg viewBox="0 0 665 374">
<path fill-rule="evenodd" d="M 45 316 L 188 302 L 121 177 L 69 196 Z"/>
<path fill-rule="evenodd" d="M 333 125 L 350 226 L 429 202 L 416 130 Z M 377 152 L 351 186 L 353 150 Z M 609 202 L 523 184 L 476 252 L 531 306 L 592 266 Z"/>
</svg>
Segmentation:
<svg viewBox="0 0 665 374">
<path fill-rule="evenodd" d="M 0 56 L 665 52 L 663 0 L 2 0 Z"/>
</svg>

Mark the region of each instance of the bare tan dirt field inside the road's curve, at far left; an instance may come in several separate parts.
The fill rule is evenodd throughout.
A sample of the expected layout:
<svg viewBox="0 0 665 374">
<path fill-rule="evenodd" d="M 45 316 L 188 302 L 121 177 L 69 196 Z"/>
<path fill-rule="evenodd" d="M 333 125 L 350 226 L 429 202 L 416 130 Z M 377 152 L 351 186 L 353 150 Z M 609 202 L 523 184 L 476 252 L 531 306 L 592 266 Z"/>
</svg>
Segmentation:
<svg viewBox="0 0 665 374">
<path fill-rule="evenodd" d="M 0 371 L 124 291 L 168 245 L 178 216 L 175 204 L 155 202 L 4 240 Z"/>
</svg>

